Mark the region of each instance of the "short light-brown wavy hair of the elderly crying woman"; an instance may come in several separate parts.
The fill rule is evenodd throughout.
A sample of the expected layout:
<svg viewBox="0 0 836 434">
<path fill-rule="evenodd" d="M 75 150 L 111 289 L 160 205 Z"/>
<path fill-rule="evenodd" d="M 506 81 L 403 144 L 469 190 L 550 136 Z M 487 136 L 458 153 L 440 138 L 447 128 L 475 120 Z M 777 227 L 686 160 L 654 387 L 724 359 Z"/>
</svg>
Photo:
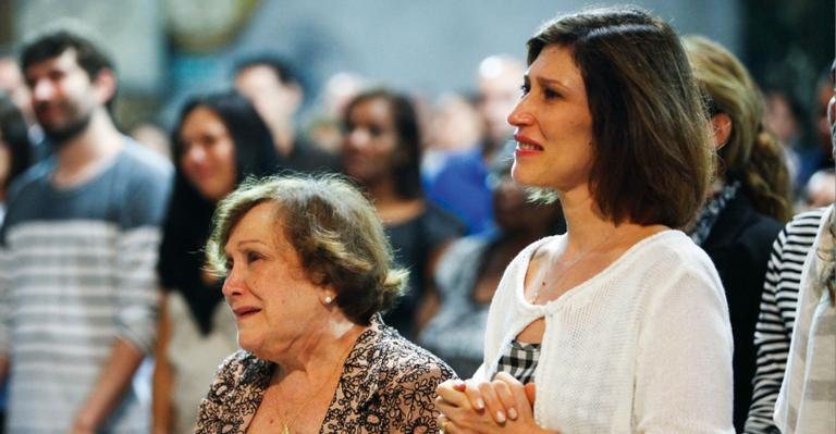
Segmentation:
<svg viewBox="0 0 836 434">
<path fill-rule="evenodd" d="M 294 247 L 307 277 L 336 292 L 336 306 L 354 323 L 392 307 L 407 278 L 395 269 L 392 248 L 374 207 L 336 175 L 250 178 L 216 210 L 206 247 L 210 266 L 225 274 L 224 246 L 256 206 L 274 203 L 273 225 Z"/>
</svg>

